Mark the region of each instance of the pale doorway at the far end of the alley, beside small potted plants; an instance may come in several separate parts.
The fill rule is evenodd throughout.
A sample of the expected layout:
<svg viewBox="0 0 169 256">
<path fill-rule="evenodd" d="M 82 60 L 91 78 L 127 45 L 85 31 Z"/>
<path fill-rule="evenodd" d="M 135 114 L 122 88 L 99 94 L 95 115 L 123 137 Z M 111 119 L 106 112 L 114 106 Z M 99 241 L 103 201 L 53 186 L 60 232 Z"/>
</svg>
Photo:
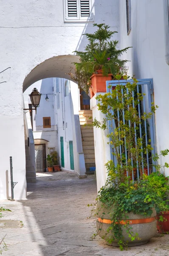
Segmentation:
<svg viewBox="0 0 169 256">
<path fill-rule="evenodd" d="M 36 172 L 46 172 L 46 150 L 45 144 L 35 145 Z"/>
</svg>

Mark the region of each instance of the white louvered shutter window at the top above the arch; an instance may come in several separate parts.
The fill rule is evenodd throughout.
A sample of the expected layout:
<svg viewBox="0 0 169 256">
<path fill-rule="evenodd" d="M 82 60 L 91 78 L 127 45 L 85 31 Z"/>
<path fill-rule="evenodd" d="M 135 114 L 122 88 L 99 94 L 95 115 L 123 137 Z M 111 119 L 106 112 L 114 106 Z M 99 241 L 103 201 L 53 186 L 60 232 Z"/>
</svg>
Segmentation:
<svg viewBox="0 0 169 256">
<path fill-rule="evenodd" d="M 92 0 L 63 0 L 65 21 L 94 21 Z"/>
</svg>

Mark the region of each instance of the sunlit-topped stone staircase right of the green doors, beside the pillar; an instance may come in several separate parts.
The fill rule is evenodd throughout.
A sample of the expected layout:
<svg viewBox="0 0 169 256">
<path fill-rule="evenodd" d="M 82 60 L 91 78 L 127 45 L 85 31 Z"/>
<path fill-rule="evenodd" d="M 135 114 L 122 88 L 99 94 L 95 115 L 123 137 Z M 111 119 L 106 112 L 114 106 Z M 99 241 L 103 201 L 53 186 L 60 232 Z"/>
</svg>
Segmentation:
<svg viewBox="0 0 169 256">
<path fill-rule="evenodd" d="M 92 116 L 92 110 L 81 110 L 79 111 L 79 121 L 82 131 L 82 147 L 85 156 L 85 167 L 86 174 L 93 174 L 94 172 L 90 171 L 90 167 L 95 167 L 95 151 L 94 151 L 94 135 L 93 135 L 93 126 L 83 126 L 84 124 L 91 124 L 92 119 L 89 117 Z"/>
</svg>

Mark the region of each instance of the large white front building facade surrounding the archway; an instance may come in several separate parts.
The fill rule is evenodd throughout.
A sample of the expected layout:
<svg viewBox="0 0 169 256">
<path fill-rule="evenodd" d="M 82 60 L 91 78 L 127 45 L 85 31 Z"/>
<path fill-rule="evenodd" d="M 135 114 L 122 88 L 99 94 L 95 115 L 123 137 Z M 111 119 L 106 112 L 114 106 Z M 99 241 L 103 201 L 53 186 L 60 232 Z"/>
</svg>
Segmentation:
<svg viewBox="0 0 169 256">
<path fill-rule="evenodd" d="M 1 199 L 6 199 L 10 190 L 6 180 L 6 171 L 10 180 L 9 156 L 13 157 L 14 181 L 18 182 L 15 199 L 26 198 L 23 92 L 41 79 L 70 79 L 70 67 L 77 61 L 73 51 L 84 49 L 87 41 L 83 34 L 94 32 L 94 23 L 105 23 L 118 31 L 114 39 L 120 41 L 120 48 L 132 47 L 123 56 L 131 61 L 130 75 L 153 79 L 155 104 L 160 107 L 156 113 L 157 150 L 168 147 L 168 0 L 88 0 L 86 14 L 80 5 L 83 1 L 74 2 L 72 13 L 67 0 L 1 0 L 0 71 L 5 71 L 0 73 L 0 82 L 6 82 L 0 84 Z M 94 98 L 91 105 L 93 117 L 99 117 Z M 98 189 L 106 180 L 104 163 L 110 157 L 104 145 L 105 134 L 95 137 Z M 164 161 L 169 162 L 169 157 Z"/>
</svg>

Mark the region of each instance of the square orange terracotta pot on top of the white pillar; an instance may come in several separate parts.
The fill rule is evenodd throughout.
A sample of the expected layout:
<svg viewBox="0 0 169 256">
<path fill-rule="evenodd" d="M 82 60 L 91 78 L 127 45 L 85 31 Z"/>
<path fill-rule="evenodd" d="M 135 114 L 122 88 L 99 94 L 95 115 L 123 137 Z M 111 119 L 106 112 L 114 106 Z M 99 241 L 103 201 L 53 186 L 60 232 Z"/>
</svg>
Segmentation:
<svg viewBox="0 0 169 256">
<path fill-rule="evenodd" d="M 113 75 L 103 76 L 102 73 L 93 74 L 91 77 L 93 93 L 106 93 L 106 81 L 113 80 Z"/>
</svg>

